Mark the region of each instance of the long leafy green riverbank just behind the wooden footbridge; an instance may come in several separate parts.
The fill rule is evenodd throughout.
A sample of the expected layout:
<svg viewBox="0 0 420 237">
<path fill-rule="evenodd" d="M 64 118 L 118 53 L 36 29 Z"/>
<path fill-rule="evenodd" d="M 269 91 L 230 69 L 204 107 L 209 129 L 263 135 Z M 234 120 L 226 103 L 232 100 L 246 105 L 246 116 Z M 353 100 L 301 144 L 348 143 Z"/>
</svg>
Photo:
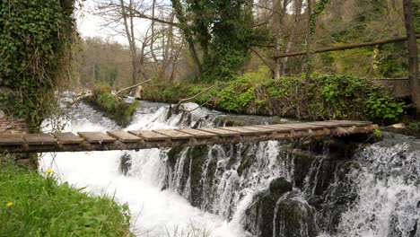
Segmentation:
<svg viewBox="0 0 420 237">
<path fill-rule="evenodd" d="M 213 86 L 208 92 L 197 93 Z M 249 115 L 298 119 L 363 119 L 380 123 L 398 120 L 403 101 L 365 78 L 351 75 L 288 76 L 254 80 L 240 76 L 214 84 L 153 82 L 144 85 L 143 99 L 177 103 L 182 98 L 215 109 Z"/>
</svg>

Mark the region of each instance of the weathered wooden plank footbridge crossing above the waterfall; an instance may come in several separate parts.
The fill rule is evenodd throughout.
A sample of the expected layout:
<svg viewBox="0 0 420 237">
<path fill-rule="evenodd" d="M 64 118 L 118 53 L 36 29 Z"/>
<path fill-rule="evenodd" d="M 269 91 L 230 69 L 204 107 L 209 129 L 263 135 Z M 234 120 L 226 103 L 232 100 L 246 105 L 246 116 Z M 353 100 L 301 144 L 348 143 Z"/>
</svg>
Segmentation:
<svg viewBox="0 0 420 237">
<path fill-rule="evenodd" d="M 247 127 L 183 128 L 136 131 L 1 134 L 0 153 L 138 150 L 188 145 L 237 144 L 311 136 L 346 136 L 378 128 L 364 121 L 319 121 Z"/>
</svg>

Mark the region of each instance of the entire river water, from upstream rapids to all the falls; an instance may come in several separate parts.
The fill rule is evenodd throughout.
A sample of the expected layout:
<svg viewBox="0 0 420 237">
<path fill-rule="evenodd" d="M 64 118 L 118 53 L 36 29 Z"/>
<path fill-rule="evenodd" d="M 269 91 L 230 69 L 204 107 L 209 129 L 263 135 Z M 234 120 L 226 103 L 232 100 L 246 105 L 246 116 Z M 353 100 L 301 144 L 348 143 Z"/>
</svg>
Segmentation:
<svg viewBox="0 0 420 237">
<path fill-rule="evenodd" d="M 166 104 L 142 105 L 123 129 L 214 127 L 223 117 L 195 104 L 185 105 L 190 112 L 178 115 L 168 114 Z M 113 129 L 121 127 L 83 103 L 70 111 L 65 128 Z M 62 181 L 127 203 L 137 236 L 188 236 L 192 231 L 214 237 L 420 236 L 420 142 L 414 138 L 391 136 L 359 145 L 351 159 L 337 158 L 326 146 L 304 174 L 302 163 L 286 154 L 290 145 L 284 142 L 194 149 L 172 156 L 169 149 L 43 154 L 40 169 L 51 168 Z M 197 153 L 205 159 L 195 166 Z M 198 176 L 194 169 L 200 170 Z M 252 206 L 258 206 L 256 197 L 279 177 L 292 183 L 293 190 L 275 198 L 270 207 L 274 214 L 267 221 Z M 286 216 L 291 212 L 282 208 L 291 205 L 299 207 L 291 211 L 297 216 L 294 222 Z M 271 227 L 264 227 L 262 220 Z M 287 227 L 291 223 L 295 233 Z"/>
</svg>

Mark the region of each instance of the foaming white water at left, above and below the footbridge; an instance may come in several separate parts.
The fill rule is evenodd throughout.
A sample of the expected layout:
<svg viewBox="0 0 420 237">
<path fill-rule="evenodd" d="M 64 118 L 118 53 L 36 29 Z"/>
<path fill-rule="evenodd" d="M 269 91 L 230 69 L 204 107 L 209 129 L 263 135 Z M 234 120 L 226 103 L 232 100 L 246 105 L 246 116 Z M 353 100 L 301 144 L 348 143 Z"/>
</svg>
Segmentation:
<svg viewBox="0 0 420 237">
<path fill-rule="evenodd" d="M 193 105 L 188 105 L 189 107 Z M 150 110 L 150 108 L 148 108 Z M 139 110 L 129 129 L 151 129 L 182 127 L 181 115 L 165 119 L 167 107 L 157 111 Z M 197 121 L 206 110 L 197 109 L 192 121 Z M 87 105 L 73 111 L 76 119 L 69 121 L 66 131 L 104 131 L 118 128 L 101 113 Z M 131 168 L 124 176 L 119 171 L 120 157 L 125 152 L 90 152 L 46 154 L 40 159 L 41 170 L 52 168 L 60 180 L 68 181 L 76 187 L 86 187 L 95 194 L 115 195 L 121 203 L 127 203 L 133 215 L 133 232 L 139 236 L 168 236 L 167 232 L 184 231 L 186 236 L 191 228 L 211 232 L 211 236 L 245 236 L 240 224 L 228 223 L 218 215 L 208 214 L 190 206 L 172 190 L 162 190 L 165 176 L 164 161 L 160 155 L 164 150 L 146 149 L 127 152 L 131 156 Z"/>
</svg>

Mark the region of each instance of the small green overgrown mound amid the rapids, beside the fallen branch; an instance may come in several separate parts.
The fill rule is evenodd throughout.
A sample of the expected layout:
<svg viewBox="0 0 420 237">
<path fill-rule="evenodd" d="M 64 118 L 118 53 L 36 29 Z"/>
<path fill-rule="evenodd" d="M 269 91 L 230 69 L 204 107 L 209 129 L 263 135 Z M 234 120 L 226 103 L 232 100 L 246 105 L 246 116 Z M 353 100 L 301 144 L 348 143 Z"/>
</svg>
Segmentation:
<svg viewBox="0 0 420 237">
<path fill-rule="evenodd" d="M 95 88 L 93 90 L 94 96 L 88 101 L 102 110 L 109 118 L 114 119 L 119 126 L 126 127 L 139 106 L 139 101 L 128 103 L 122 101 L 111 93 L 110 88 Z"/>
</svg>

